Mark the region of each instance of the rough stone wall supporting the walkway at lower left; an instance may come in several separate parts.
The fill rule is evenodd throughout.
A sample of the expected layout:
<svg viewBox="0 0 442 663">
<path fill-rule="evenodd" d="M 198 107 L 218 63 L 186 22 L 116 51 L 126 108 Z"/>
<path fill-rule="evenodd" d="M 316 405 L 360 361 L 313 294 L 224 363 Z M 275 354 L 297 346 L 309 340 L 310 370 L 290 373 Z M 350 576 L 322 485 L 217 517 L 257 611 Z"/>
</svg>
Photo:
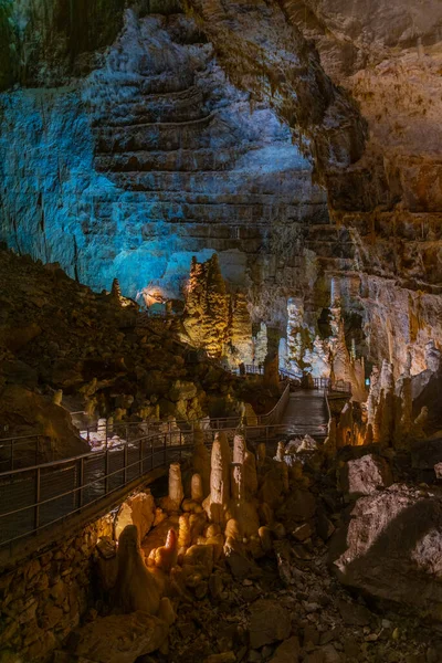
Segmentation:
<svg viewBox="0 0 442 663">
<path fill-rule="evenodd" d="M 0 575 L 0 651 L 8 661 L 45 662 L 91 608 L 92 561 L 108 516 Z M 10 657 L 8 657 L 10 656 Z"/>
</svg>

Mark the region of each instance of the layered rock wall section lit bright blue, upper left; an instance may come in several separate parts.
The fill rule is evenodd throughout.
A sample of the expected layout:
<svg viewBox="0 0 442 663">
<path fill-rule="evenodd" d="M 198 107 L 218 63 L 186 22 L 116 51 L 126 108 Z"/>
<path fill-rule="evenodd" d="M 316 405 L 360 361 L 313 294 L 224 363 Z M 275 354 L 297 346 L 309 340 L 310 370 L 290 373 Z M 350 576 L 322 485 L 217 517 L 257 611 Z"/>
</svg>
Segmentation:
<svg viewBox="0 0 442 663">
<path fill-rule="evenodd" d="M 80 281 L 177 296 L 190 260 L 265 293 L 306 277 L 325 193 L 290 129 L 225 80 L 191 20 L 137 17 L 71 87 L 0 95 L 0 239 Z M 307 256 L 308 257 L 308 256 Z"/>
</svg>

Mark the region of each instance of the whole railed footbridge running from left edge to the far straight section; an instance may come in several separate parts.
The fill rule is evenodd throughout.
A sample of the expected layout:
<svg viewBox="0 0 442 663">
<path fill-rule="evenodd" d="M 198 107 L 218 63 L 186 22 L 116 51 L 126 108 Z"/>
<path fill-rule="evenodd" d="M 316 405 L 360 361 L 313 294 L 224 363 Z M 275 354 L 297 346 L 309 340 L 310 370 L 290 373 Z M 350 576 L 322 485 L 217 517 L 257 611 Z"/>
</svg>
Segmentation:
<svg viewBox="0 0 442 663">
<path fill-rule="evenodd" d="M 232 442 L 240 418 L 200 422 L 125 423 L 85 431 L 99 442 L 95 450 L 48 463 L 13 469 L 19 445 L 38 444 L 34 436 L 0 440 L 10 450 L 11 467 L 0 472 L 0 550 L 12 550 L 30 537 L 84 515 L 84 524 L 117 506 L 137 486 L 167 472 L 172 462 L 191 454 L 196 436 L 211 448 L 224 431 Z M 291 391 L 286 385 L 267 414 L 244 425 L 249 443 L 274 445 L 278 439 L 309 433 L 324 439 L 327 432 L 326 392 Z M 4 461 L 3 461 L 4 463 Z M 104 511 L 104 509 L 107 509 Z"/>
</svg>

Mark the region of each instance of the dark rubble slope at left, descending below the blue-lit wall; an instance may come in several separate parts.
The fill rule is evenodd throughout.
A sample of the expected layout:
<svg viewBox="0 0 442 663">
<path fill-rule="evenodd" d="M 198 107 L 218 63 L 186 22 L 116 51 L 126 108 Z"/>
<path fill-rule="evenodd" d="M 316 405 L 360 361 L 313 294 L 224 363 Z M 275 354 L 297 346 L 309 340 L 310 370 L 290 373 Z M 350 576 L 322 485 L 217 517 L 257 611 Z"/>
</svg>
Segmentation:
<svg viewBox="0 0 442 663">
<path fill-rule="evenodd" d="M 0 326 L 8 329 L 0 335 L 0 411 L 11 431 L 22 427 L 23 433 L 40 429 L 49 435 L 51 414 L 51 434 L 60 438 L 67 413 L 51 403 L 60 389 L 62 407 L 85 410 L 93 421 L 112 414 L 140 421 L 197 419 L 212 389 L 222 401 L 234 382 L 217 365 L 196 364 L 167 329 L 146 324 L 137 306 L 93 293 L 57 265 L 43 267 L 0 249 Z M 31 325 L 39 333 L 11 345 Z M 39 424 L 30 420 L 31 410 Z M 66 445 L 72 438 L 65 424 Z"/>
</svg>

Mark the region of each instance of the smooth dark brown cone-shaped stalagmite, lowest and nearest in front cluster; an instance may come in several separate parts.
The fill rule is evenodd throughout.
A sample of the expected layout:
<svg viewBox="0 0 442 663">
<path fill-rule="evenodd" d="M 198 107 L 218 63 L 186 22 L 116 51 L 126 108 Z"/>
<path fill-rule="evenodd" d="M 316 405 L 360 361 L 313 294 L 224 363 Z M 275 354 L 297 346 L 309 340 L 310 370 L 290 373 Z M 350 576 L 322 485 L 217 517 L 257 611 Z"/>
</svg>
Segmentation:
<svg viewBox="0 0 442 663">
<path fill-rule="evenodd" d="M 139 547 L 138 529 L 127 525 L 118 539 L 118 575 L 115 593 L 124 612 L 144 610 L 157 614 L 160 592 L 155 578 L 147 570 Z"/>
</svg>

